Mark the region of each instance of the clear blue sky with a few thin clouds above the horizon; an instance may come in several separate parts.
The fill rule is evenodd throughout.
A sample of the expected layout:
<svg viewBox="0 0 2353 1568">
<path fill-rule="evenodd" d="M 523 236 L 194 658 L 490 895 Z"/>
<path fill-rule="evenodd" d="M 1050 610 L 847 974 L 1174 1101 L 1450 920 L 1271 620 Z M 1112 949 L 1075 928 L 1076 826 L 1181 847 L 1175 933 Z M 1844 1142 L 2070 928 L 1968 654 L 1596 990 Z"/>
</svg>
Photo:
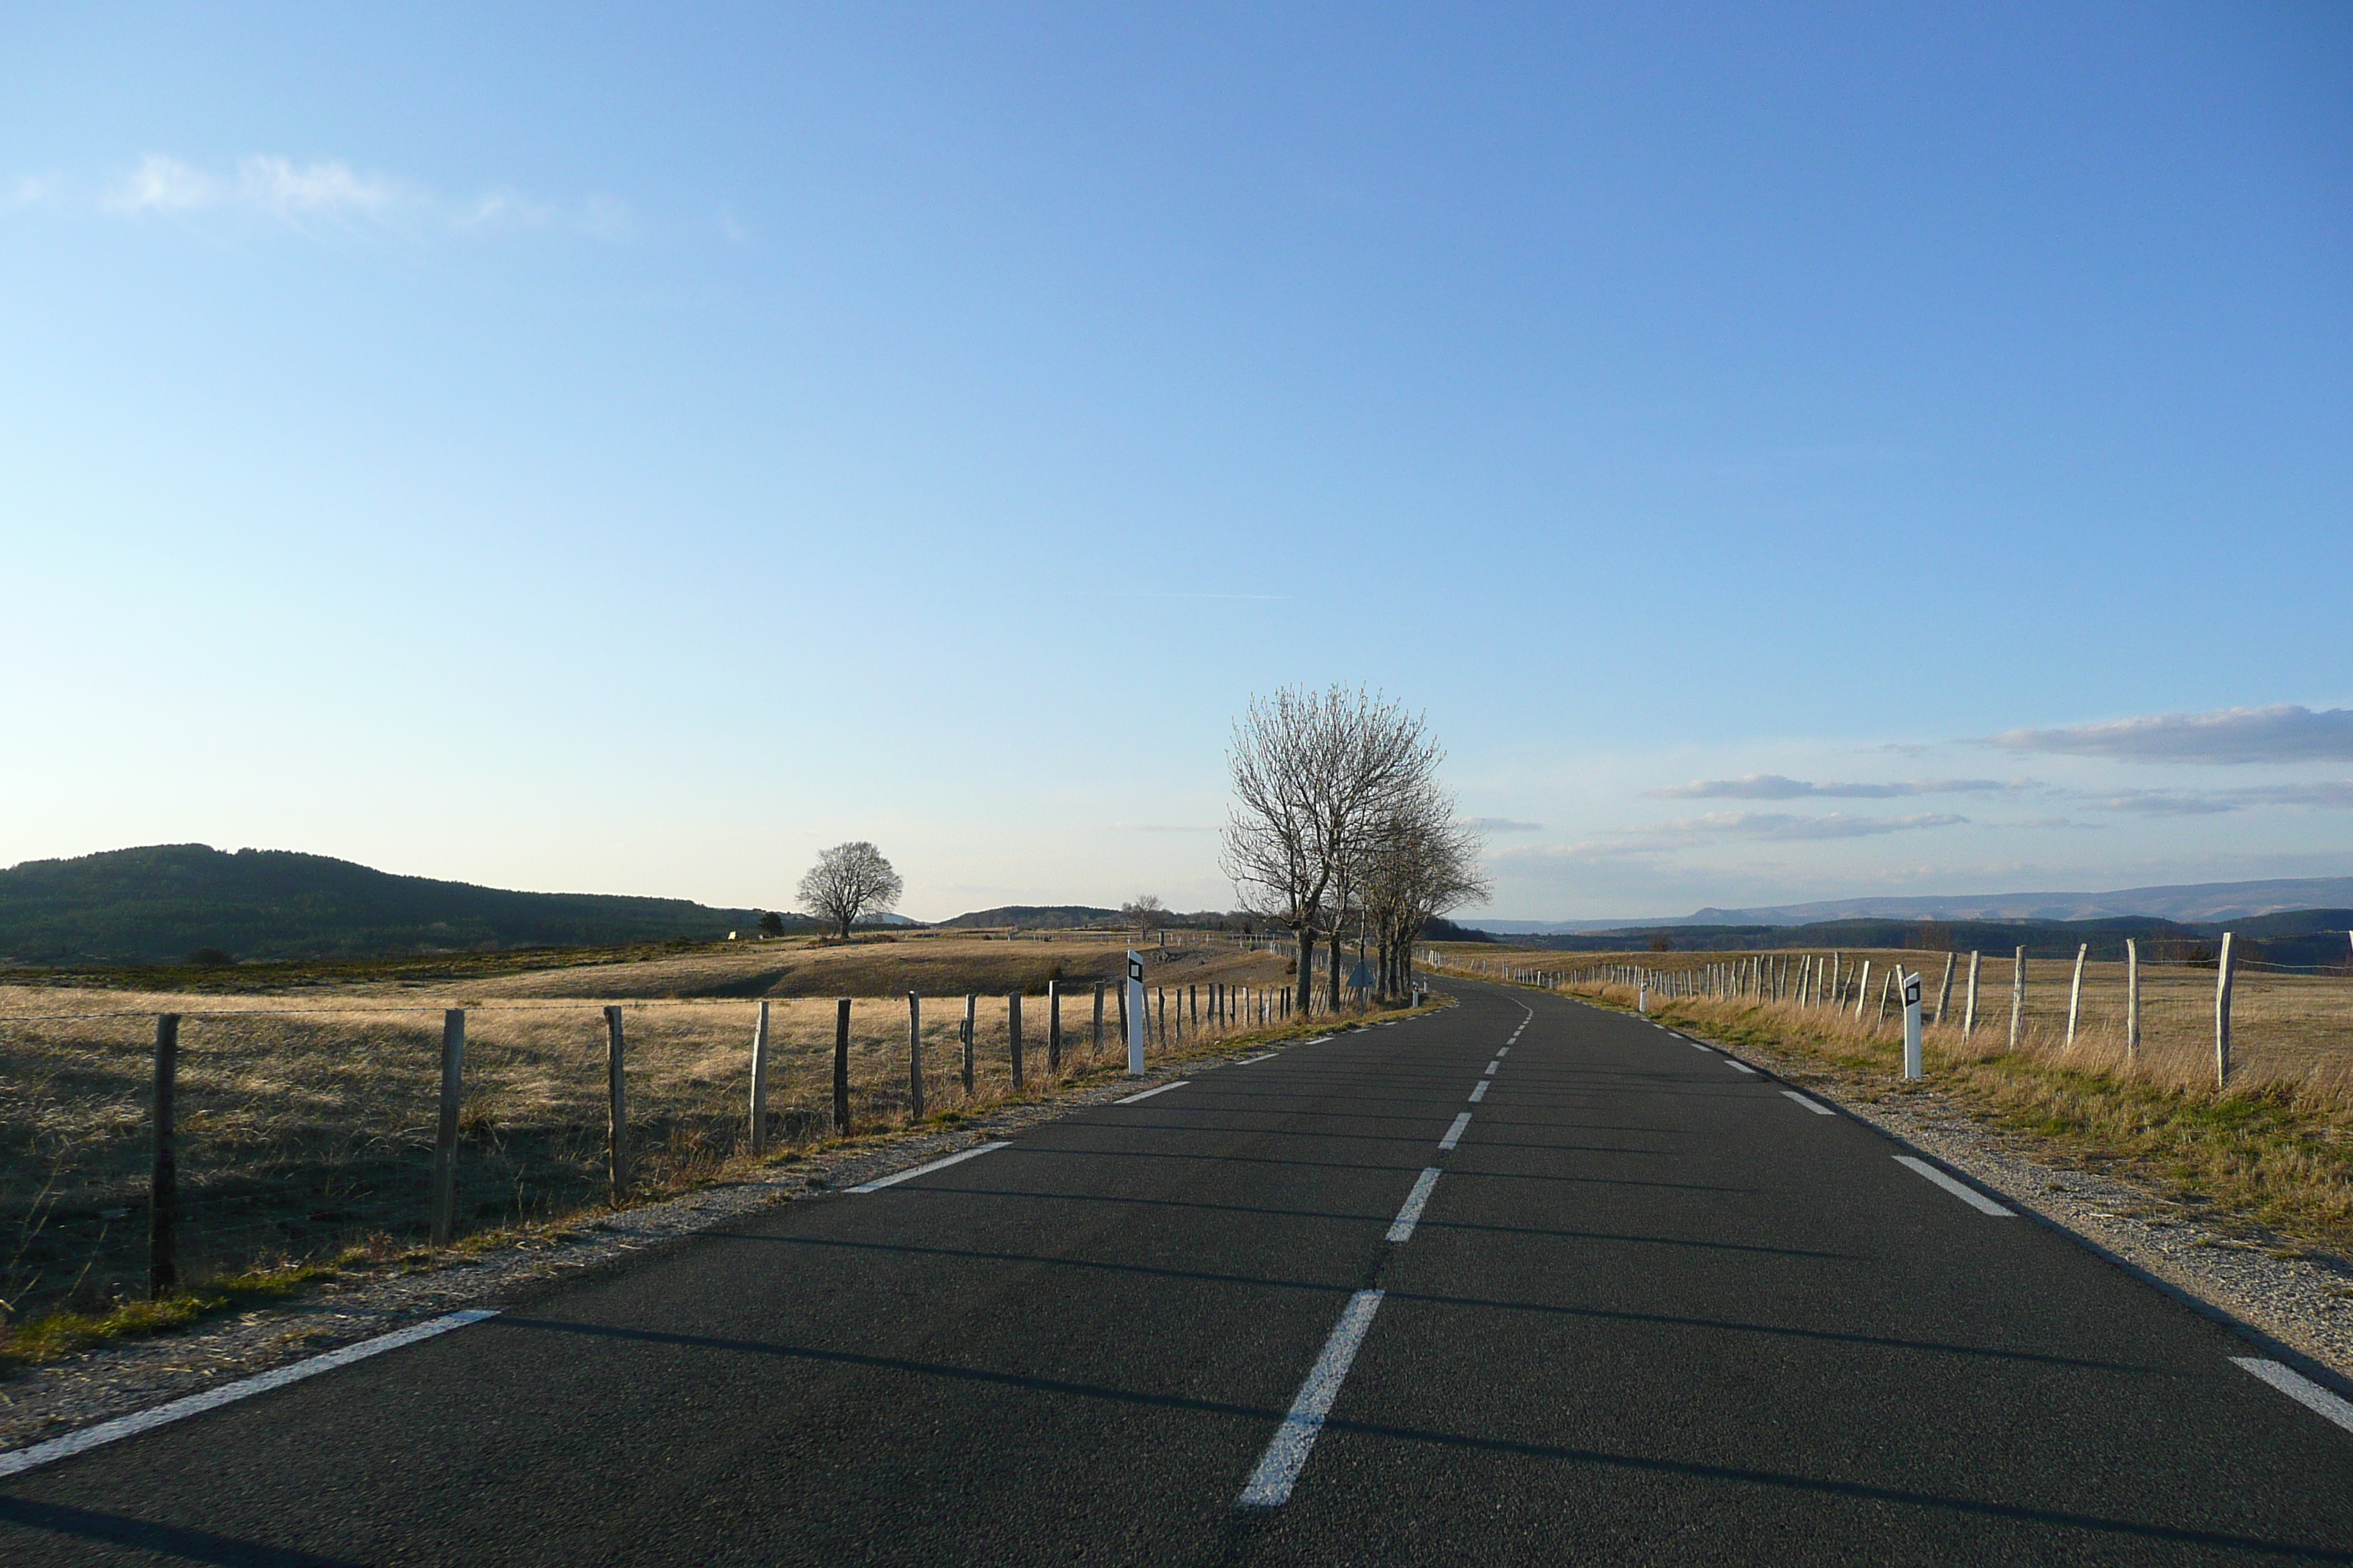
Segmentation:
<svg viewBox="0 0 2353 1568">
<path fill-rule="evenodd" d="M 1224 905 L 1337 679 L 1494 914 L 2353 872 L 2344 7 L 221 12 L 0 40 L 0 863 Z"/>
</svg>

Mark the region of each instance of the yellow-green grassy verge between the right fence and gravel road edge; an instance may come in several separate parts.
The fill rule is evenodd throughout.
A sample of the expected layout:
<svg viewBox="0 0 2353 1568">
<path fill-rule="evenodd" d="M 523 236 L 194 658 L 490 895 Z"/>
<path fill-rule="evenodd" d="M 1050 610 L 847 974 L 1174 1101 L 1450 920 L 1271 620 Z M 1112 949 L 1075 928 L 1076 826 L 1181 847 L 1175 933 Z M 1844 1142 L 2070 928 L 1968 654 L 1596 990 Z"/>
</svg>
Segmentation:
<svg viewBox="0 0 2353 1568">
<path fill-rule="evenodd" d="M 1574 992 L 1633 1011 L 1624 987 Z M 2200 1220 L 2247 1237 L 2353 1258 L 2353 1105 L 2329 1084 L 2228 1091 L 2153 1081 L 2115 1067 L 1925 1041 L 1927 1079 L 1906 1084 L 1901 1037 L 1779 1001 L 1654 1001 L 1652 1018 L 1774 1053 L 1791 1077 L 1849 1100 L 1955 1107 L 2012 1133 L 2047 1164 L 2120 1175 Z"/>
</svg>

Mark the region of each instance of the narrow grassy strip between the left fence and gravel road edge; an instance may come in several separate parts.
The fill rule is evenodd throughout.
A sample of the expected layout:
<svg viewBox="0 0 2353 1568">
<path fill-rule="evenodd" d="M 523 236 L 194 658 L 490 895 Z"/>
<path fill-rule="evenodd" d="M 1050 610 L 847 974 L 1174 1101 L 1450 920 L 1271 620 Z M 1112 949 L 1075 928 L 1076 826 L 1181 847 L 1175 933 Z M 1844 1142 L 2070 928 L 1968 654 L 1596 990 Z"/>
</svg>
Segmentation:
<svg viewBox="0 0 2353 1568">
<path fill-rule="evenodd" d="M 1339 1034 L 1346 1030 L 1360 1030 L 1377 1023 L 1395 1023 L 1398 1018 L 1412 1018 L 1414 1013 L 1433 1011 L 1442 1004 L 1428 1004 L 1421 1009 L 1393 1009 L 1393 1011 L 1367 1011 L 1367 1013 L 1344 1013 L 1339 1018 L 1315 1016 L 1294 1018 L 1282 1025 L 1271 1025 L 1264 1030 L 1247 1030 L 1233 1034 L 1207 1034 L 1184 1041 L 1172 1051 L 1155 1051 L 1155 1067 L 1172 1067 L 1184 1063 L 1200 1063 L 1235 1051 L 1247 1051 L 1254 1046 L 1275 1046 L 1297 1039 L 1313 1039 L 1320 1034 Z M 847 1135 L 826 1135 L 812 1143 L 776 1150 L 762 1157 L 734 1157 L 711 1166 L 699 1166 L 692 1171 L 675 1171 L 659 1182 L 649 1182 L 631 1194 L 628 1204 L 619 1208 L 635 1208 L 642 1204 L 661 1204 L 699 1187 L 722 1187 L 736 1185 L 760 1175 L 762 1171 L 776 1166 L 802 1164 L 833 1152 L 866 1150 L 894 1143 L 899 1138 L 925 1135 L 953 1131 L 967 1121 L 981 1121 L 993 1112 L 1009 1105 L 1035 1105 L 1059 1100 L 1068 1093 L 1094 1088 L 1108 1084 L 1127 1072 L 1127 1058 L 1104 1053 L 1101 1058 L 1078 1060 L 1064 1067 L 1049 1081 L 1040 1081 L 1035 1088 L 1019 1095 L 998 1095 L 988 1100 L 976 1100 L 969 1105 L 955 1105 L 948 1110 L 932 1112 L 920 1121 L 908 1119 L 878 1119 L 866 1126 L 854 1126 Z M 541 1241 L 562 1241 L 579 1225 L 619 1213 L 612 1206 L 588 1208 L 548 1225 L 511 1227 L 511 1229 L 482 1229 L 459 1239 L 449 1248 L 449 1258 L 471 1258 L 501 1246 L 513 1246 L 527 1237 Z M 376 1248 L 351 1248 L 332 1265 L 287 1265 L 275 1269 L 254 1269 L 247 1274 L 233 1274 L 224 1279 L 209 1279 L 179 1295 L 155 1300 L 155 1302 L 122 1302 L 111 1312 L 49 1312 L 21 1324 L 0 1328 L 0 1375 L 12 1375 L 28 1366 L 42 1366 L 47 1361 L 59 1361 L 75 1352 L 99 1349 L 106 1345 L 120 1345 L 127 1340 L 144 1340 L 162 1333 L 174 1333 L 179 1328 L 191 1328 L 195 1324 L 231 1314 L 249 1312 L 254 1307 L 285 1305 L 313 1286 L 329 1279 L 348 1279 L 351 1274 L 384 1272 L 384 1269 L 419 1269 L 435 1267 L 438 1258 L 428 1251 L 388 1251 Z"/>
</svg>

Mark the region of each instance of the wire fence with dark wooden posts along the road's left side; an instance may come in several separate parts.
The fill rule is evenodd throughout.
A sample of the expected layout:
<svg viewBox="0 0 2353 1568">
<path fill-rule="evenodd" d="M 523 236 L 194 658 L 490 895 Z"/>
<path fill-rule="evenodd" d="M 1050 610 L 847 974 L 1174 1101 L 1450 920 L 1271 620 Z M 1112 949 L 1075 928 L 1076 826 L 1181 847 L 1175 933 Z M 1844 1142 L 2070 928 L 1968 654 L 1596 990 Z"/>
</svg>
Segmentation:
<svg viewBox="0 0 2353 1568">
<path fill-rule="evenodd" d="M 614 1192 L 607 1004 L 471 1006 L 447 1234 L 659 1197 L 751 1154 L 762 1006 L 767 1150 L 906 1124 L 918 1072 L 925 1110 L 941 1112 L 1125 1053 L 1120 987 L 922 997 L 913 1011 L 904 994 L 861 997 L 847 1030 L 840 999 L 628 1001 L 616 1009 L 626 1185 Z M 1214 1044 L 1287 1016 L 1289 987 L 1148 987 L 1146 1011 L 1153 1051 Z M 160 1016 L 176 1018 L 162 1121 Z M 158 1213 L 179 1281 L 428 1244 L 442 1053 L 442 1006 L 49 1001 L 0 1016 L 0 1312 L 99 1312 L 148 1295 Z M 160 1143 L 169 1182 L 155 1168 Z"/>
</svg>

